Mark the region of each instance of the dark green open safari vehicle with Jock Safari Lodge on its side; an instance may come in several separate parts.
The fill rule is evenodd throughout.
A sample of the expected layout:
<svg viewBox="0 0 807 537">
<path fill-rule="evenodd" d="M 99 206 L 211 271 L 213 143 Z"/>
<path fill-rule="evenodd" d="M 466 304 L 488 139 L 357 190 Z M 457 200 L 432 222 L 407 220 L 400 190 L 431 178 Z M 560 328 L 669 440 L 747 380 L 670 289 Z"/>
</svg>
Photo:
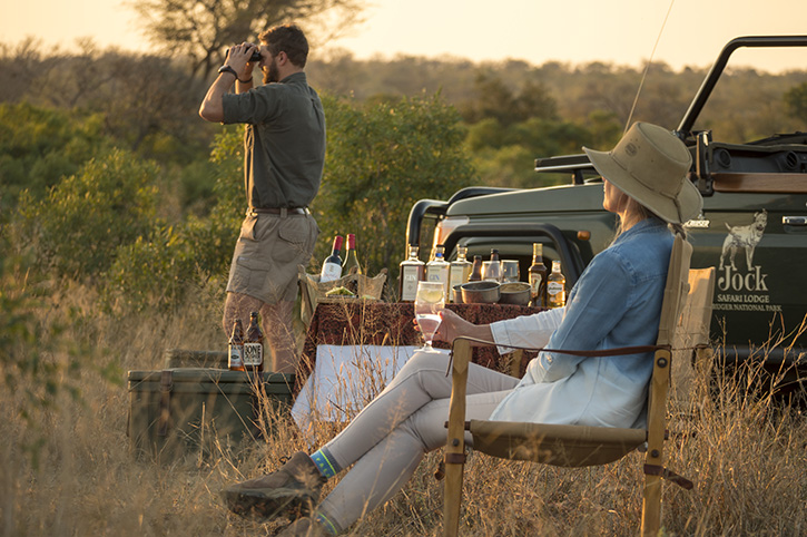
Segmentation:
<svg viewBox="0 0 807 537">
<path fill-rule="evenodd" d="M 725 342 L 730 360 L 766 355 L 766 367 L 775 369 L 795 363 L 793 380 L 807 372 L 807 334 L 791 335 L 791 349 L 764 345 L 793 334 L 807 315 L 807 133 L 727 144 L 697 127 L 740 47 L 807 47 L 807 36 L 744 37 L 720 52 L 673 131 L 692 154 L 690 178 L 703 195 L 702 214 L 686 227 L 692 267 L 717 268 L 712 340 Z M 495 247 L 526 274 L 532 243 L 541 242 L 544 262 L 560 260 L 571 289 L 613 238 L 616 218 L 602 208 L 602 180 L 584 154 L 539 158 L 535 170 L 568 173 L 572 180 L 535 189 L 470 187 L 447 202 L 422 199 L 410 213 L 407 246 L 419 245 L 434 224 L 433 244 L 443 244 L 450 258 L 459 244 L 483 258 Z"/>
</svg>

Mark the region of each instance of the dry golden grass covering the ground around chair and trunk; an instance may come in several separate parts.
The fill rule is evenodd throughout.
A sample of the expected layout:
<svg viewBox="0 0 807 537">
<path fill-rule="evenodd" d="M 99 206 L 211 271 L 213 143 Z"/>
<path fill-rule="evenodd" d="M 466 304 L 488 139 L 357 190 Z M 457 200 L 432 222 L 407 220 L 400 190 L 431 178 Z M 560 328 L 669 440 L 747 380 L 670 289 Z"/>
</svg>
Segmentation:
<svg viewBox="0 0 807 537">
<path fill-rule="evenodd" d="M 57 314 L 68 304 L 91 312 L 94 301 L 87 290 L 72 289 L 59 297 L 60 310 L 41 314 Z M 214 302 L 219 303 L 203 291 L 179 315 L 98 316 L 73 325 L 68 336 L 107 349 L 92 360 L 119 365 L 121 378 L 129 369 L 160 369 L 167 348 L 225 348 L 220 311 L 209 306 Z M 807 426 L 798 410 L 747 390 L 760 374 L 749 368 L 736 378 L 701 375 L 691 404 L 673 409 L 670 467 L 696 487 L 685 491 L 666 485 L 666 535 L 807 533 Z M 0 396 L 2 535 L 242 536 L 273 535 L 283 526 L 229 515 L 217 492 L 307 448 L 285 417 L 267 416 L 282 426 L 270 441 L 159 466 L 128 452 L 126 385 L 91 371 L 79 383 L 82 401 L 62 397 L 58 410 L 37 411 L 36 428 L 17 416 L 19 390 Z M 316 430 L 317 443 L 334 431 L 325 424 Z M 23 447 L 38 441 L 35 468 Z M 350 534 L 441 535 L 442 482 L 432 477 L 439 458 L 440 452 L 430 453 L 404 490 Z M 636 535 L 640 463 L 641 456 L 633 453 L 606 467 L 568 470 L 472 455 L 462 535 Z"/>
</svg>

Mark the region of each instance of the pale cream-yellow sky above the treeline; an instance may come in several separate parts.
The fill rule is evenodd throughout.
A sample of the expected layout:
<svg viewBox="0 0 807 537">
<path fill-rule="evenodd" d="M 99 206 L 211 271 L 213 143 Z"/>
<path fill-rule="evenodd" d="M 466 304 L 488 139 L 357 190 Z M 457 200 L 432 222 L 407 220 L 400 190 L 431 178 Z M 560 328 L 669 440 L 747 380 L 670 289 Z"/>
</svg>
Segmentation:
<svg viewBox="0 0 807 537">
<path fill-rule="evenodd" d="M 6 45 L 33 37 L 70 50 L 76 39 L 90 37 L 102 48 L 149 50 L 122 0 L 0 2 Z M 537 66 L 641 67 L 652 55 L 679 70 L 710 66 L 735 37 L 807 35 L 806 0 L 368 0 L 363 16 L 362 25 L 326 46 L 360 59 L 406 55 Z M 807 50 L 740 49 L 730 66 L 807 69 Z"/>
</svg>

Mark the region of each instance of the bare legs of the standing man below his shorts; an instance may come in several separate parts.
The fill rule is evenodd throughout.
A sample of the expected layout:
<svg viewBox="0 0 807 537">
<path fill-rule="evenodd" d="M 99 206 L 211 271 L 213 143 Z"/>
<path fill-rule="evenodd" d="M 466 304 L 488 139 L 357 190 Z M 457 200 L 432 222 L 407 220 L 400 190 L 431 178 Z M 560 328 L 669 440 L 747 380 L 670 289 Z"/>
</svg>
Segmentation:
<svg viewBox="0 0 807 537">
<path fill-rule="evenodd" d="M 294 302 L 281 301 L 277 304 L 266 304 L 247 294 L 227 293 L 222 320 L 227 338 L 233 333 L 233 323 L 236 319 L 242 320 L 246 331 L 249 325 L 249 313 L 254 311 L 260 312 L 264 346 L 268 351 L 268 355 L 264 357 L 264 369 L 278 373 L 295 373 L 299 360 L 293 325 Z"/>
</svg>

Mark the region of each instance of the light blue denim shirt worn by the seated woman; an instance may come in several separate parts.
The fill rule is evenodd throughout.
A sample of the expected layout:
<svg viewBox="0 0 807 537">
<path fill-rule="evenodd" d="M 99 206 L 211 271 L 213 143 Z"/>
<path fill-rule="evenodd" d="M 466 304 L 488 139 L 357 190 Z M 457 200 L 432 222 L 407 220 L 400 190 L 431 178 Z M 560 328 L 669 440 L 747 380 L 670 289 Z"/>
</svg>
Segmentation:
<svg viewBox="0 0 807 537">
<path fill-rule="evenodd" d="M 655 344 L 672 238 L 667 224 L 648 218 L 594 256 L 572 289 L 547 348 Z M 506 323 L 494 334 L 506 333 Z M 506 344 L 499 338 L 496 342 Z M 581 358 L 541 352 L 491 419 L 637 427 L 651 372 L 652 353 Z"/>
</svg>

